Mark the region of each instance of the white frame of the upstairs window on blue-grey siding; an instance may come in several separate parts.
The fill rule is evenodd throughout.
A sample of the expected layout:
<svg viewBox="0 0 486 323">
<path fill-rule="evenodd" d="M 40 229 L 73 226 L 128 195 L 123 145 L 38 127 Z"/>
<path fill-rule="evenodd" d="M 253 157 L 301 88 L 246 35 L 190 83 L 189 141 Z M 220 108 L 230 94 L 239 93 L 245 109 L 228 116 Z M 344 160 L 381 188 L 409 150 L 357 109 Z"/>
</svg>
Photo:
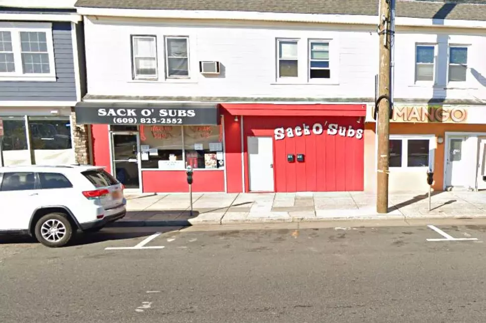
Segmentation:
<svg viewBox="0 0 486 323">
<path fill-rule="evenodd" d="M 12 39 L 13 61 L 15 72 L 0 73 L 0 81 L 37 81 L 56 82 L 56 64 L 54 61 L 54 43 L 52 23 L 39 22 L 0 22 L 0 31 L 10 32 Z M 46 33 L 47 53 L 49 57 L 50 73 L 23 73 L 22 51 L 20 46 L 20 32 Z"/>
</svg>

